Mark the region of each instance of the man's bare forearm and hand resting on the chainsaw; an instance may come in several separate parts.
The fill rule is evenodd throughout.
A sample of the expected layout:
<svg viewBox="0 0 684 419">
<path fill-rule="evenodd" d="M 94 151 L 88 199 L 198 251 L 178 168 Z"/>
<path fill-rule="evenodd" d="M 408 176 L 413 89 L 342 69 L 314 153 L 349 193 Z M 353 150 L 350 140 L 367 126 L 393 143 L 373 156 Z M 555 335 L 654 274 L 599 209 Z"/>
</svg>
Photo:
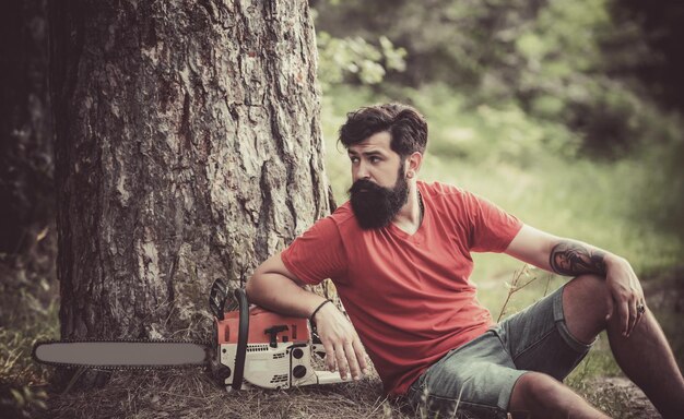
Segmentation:
<svg viewBox="0 0 684 419">
<path fill-rule="evenodd" d="M 297 277 L 287 270 L 280 253 L 269 258 L 247 282 L 251 302 L 279 313 L 309 318 L 325 298 L 302 288 Z M 316 312 L 318 335 L 326 348 L 326 363 L 340 376 L 351 372 L 354 380 L 367 373 L 366 351 L 352 324 L 334 304 L 327 303 Z"/>
</svg>

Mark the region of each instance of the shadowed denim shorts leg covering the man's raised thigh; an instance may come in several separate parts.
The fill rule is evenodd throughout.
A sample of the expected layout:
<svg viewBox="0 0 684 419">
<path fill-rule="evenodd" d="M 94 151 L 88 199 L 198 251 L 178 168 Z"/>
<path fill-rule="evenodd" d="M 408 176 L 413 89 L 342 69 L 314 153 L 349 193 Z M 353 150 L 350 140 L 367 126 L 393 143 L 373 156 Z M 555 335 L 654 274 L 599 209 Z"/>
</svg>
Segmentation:
<svg viewBox="0 0 684 419">
<path fill-rule="evenodd" d="M 499 323 L 499 335 L 517 369 L 543 372 L 563 381 L 585 358 L 592 344 L 568 331 L 561 287 L 526 310 Z"/>
</svg>

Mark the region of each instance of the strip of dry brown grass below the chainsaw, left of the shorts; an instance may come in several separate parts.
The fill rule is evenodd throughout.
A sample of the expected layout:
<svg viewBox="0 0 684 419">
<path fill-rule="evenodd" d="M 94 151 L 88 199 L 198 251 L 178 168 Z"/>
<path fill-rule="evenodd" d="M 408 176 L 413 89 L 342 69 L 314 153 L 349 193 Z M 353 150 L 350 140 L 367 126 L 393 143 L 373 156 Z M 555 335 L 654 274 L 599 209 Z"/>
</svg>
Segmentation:
<svg viewBox="0 0 684 419">
<path fill-rule="evenodd" d="M 226 392 L 201 370 L 114 372 L 103 388 L 50 394 L 35 418 L 409 418 L 377 376 L 287 391 Z"/>
</svg>

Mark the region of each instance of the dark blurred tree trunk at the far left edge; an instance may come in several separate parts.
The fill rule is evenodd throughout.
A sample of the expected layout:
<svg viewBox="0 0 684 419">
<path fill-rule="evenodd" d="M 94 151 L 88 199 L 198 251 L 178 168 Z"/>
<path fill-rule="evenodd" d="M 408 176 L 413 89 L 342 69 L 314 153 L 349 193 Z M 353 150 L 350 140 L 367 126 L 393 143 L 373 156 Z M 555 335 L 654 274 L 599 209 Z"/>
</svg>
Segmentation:
<svg viewBox="0 0 684 419">
<path fill-rule="evenodd" d="M 0 253 L 30 251 L 52 219 L 47 1 L 0 3 Z"/>
</svg>

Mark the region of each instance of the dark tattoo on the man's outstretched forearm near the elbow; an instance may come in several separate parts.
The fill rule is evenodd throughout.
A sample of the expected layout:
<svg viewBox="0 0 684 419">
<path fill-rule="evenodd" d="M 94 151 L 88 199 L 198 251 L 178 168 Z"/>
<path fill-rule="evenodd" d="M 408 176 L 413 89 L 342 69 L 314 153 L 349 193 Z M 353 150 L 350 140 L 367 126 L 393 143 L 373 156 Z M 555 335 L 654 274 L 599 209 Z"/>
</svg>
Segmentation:
<svg viewBox="0 0 684 419">
<path fill-rule="evenodd" d="M 549 264 L 559 275 L 605 275 L 605 252 L 577 241 L 564 240 L 551 250 Z"/>
</svg>

